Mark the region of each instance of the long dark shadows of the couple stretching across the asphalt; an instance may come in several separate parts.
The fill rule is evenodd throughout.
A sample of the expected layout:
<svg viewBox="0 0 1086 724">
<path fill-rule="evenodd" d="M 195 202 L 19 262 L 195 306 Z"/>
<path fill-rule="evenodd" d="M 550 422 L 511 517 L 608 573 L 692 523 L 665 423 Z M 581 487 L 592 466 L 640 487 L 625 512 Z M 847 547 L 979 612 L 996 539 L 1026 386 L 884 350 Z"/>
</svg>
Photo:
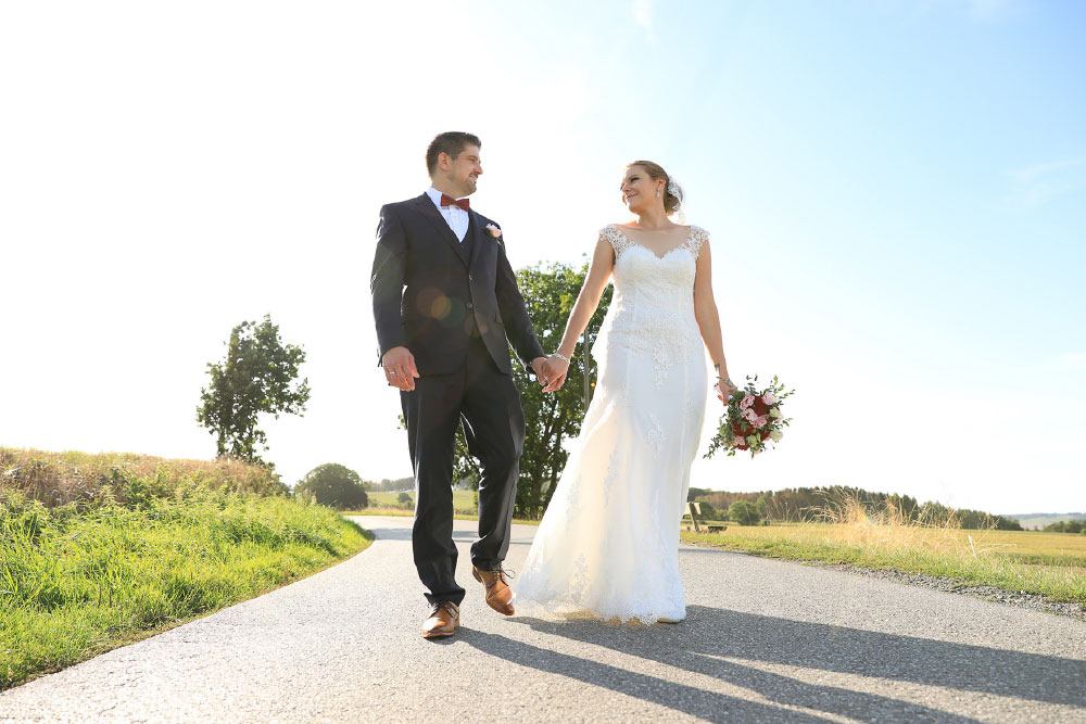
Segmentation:
<svg viewBox="0 0 1086 724">
<path fill-rule="evenodd" d="M 692 606 L 678 625 L 607 624 L 591 619 L 564 622 L 517 618 L 531 628 L 604 646 L 757 691 L 766 699 L 870 721 L 973 721 L 899 699 L 835 686 L 807 684 L 727 659 L 745 659 L 880 677 L 926 686 L 1086 707 L 1086 662 L 982 646 L 791 621 Z M 697 716 L 734 715 L 732 697 L 671 684 L 608 664 L 557 653 L 497 635 L 470 632 L 463 640 L 480 650 L 541 671 L 554 672 Z M 775 710 L 781 713 L 781 710 Z M 712 712 L 717 712 L 714 714 Z M 796 712 L 792 712 L 796 713 Z M 754 715 L 754 712 L 752 712 Z"/>
</svg>

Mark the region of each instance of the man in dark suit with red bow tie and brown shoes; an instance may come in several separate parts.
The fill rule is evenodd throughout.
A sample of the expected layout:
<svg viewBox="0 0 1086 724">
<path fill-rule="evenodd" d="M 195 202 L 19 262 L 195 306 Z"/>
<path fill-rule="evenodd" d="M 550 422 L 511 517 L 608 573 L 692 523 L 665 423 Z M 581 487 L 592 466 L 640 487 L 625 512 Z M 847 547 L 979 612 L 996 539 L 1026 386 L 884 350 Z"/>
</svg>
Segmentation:
<svg viewBox="0 0 1086 724">
<path fill-rule="evenodd" d="M 426 152 L 431 186 L 381 207 L 370 291 L 380 364 L 397 388 L 415 470 L 412 547 L 429 589 L 427 638 L 451 636 L 464 588 L 455 581 L 453 442 L 463 420 L 482 463 L 475 579 L 491 608 L 512 615 L 502 561 L 509 548 L 525 415 L 513 383 L 509 343 L 544 380 L 548 368 L 506 256 L 501 228 L 470 207 L 482 175 L 481 142 L 441 134 Z"/>
</svg>

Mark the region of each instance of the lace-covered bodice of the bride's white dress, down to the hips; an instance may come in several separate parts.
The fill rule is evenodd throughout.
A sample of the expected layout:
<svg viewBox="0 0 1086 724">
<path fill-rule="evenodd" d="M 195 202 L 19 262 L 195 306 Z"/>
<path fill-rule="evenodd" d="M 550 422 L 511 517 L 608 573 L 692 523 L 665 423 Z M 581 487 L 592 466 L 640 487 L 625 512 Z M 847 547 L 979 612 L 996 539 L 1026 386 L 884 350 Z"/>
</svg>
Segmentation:
<svg viewBox="0 0 1086 724">
<path fill-rule="evenodd" d="M 653 355 L 661 385 L 669 367 L 700 352 L 694 275 L 697 255 L 709 234 L 692 226 L 683 243 L 664 256 L 631 240 L 614 224 L 601 229 L 599 238 L 615 249 L 615 296 L 593 356 L 604 364 L 615 344 Z"/>
</svg>

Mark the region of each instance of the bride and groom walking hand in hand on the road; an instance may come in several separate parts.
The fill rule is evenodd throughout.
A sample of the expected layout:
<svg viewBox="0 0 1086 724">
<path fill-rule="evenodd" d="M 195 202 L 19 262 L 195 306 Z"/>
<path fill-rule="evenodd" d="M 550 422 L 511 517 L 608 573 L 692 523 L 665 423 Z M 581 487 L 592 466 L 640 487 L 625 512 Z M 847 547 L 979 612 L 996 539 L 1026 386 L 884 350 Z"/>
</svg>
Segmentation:
<svg viewBox="0 0 1086 724">
<path fill-rule="evenodd" d="M 681 621 L 679 525 L 708 392 L 703 343 L 718 396 L 736 391 L 712 299 L 708 233 L 670 219 L 682 191 L 660 166 L 627 166 L 621 199 L 635 218 L 601 230 L 566 332 L 547 354 L 509 265 L 510 242 L 469 203 L 482 175 L 481 147 L 471 134 L 433 139 L 430 188 L 381 208 L 370 280 L 380 364 L 400 390 L 415 470 L 412 546 L 430 604 L 422 636 L 453 635 L 465 595 L 452 539 L 460 424 L 482 467 L 472 576 L 491 608 L 515 613 L 503 562 L 525 416 L 509 345 L 545 392 L 558 390 L 613 277 L 615 295 L 592 350 L 595 396 L 517 580 L 516 605 Z"/>
</svg>

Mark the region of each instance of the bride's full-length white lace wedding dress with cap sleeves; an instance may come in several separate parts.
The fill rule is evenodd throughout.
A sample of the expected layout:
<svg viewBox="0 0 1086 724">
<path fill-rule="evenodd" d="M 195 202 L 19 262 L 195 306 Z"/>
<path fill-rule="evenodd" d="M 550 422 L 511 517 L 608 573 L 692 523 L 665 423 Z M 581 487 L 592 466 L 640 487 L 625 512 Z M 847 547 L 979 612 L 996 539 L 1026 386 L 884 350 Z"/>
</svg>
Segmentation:
<svg viewBox="0 0 1086 724">
<path fill-rule="evenodd" d="M 705 347 L 692 226 L 662 257 L 620 227 L 615 295 L 592 354 L 595 396 L 515 590 L 520 613 L 590 612 L 655 623 L 686 614 L 679 525 L 705 417 Z"/>
</svg>

